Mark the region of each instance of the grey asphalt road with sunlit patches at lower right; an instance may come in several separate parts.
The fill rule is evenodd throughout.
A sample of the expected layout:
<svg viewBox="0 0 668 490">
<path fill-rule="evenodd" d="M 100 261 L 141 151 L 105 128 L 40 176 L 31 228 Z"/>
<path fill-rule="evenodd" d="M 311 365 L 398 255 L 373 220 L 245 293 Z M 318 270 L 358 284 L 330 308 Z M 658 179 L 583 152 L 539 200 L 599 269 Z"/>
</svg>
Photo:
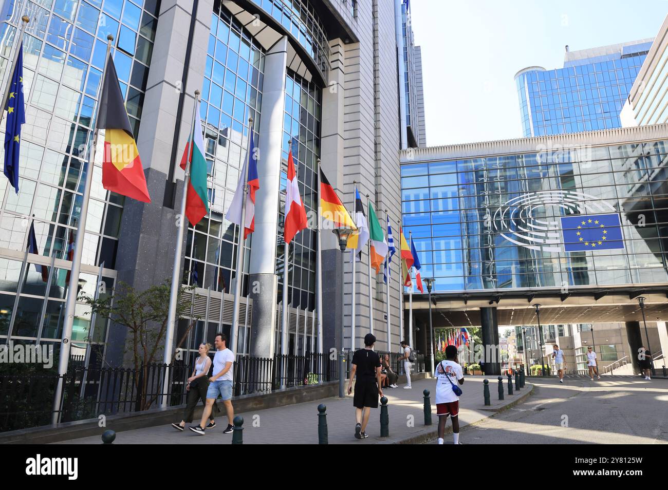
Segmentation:
<svg viewBox="0 0 668 490">
<path fill-rule="evenodd" d="M 668 443 L 668 380 L 531 382 L 536 387 L 526 401 L 464 427 L 462 444 Z M 445 441 L 452 444 L 452 435 Z"/>
</svg>

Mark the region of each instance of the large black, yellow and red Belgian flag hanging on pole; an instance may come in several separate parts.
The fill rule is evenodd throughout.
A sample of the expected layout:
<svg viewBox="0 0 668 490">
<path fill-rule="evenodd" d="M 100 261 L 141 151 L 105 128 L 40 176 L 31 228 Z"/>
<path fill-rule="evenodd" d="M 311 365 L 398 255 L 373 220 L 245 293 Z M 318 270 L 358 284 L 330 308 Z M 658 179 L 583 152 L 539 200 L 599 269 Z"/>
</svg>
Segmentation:
<svg viewBox="0 0 668 490">
<path fill-rule="evenodd" d="M 128 198 L 151 202 L 111 54 L 103 83 L 97 124 L 98 130 L 105 130 L 102 187 Z"/>
</svg>

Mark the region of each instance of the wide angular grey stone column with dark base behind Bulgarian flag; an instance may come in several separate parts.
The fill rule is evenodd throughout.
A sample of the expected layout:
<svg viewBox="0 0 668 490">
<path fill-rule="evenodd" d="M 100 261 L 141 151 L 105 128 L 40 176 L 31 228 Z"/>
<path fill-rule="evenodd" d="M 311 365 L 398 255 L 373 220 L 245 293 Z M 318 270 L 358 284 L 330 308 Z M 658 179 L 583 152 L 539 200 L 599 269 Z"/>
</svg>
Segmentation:
<svg viewBox="0 0 668 490">
<path fill-rule="evenodd" d="M 172 277 L 178 209 L 164 202 L 180 202 L 184 172 L 178 167 L 192 125 L 194 91 L 202 89 L 213 0 L 163 2 L 137 138 L 150 203 L 126 198 L 116 270 L 118 281 L 142 291 Z M 186 54 L 189 53 L 186 63 Z M 175 162 L 176 160 L 176 162 Z M 170 165 L 176 169 L 170 178 Z M 166 196 L 176 188 L 175 196 Z M 112 322 L 106 359 L 122 364 L 127 328 Z"/>
</svg>

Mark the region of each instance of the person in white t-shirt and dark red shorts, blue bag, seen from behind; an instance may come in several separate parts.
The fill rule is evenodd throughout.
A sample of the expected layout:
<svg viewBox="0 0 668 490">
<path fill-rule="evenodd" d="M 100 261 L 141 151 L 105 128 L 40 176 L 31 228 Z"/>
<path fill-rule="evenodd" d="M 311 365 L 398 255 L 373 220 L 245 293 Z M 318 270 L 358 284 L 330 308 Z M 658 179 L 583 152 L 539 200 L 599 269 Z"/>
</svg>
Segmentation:
<svg viewBox="0 0 668 490">
<path fill-rule="evenodd" d="M 436 365 L 436 415 L 438 415 L 438 443 L 443 444 L 448 415 L 452 419 L 454 443 L 459 444 L 459 397 L 452 391 L 453 385 L 464 384 L 464 373 L 454 345 L 446 347 L 446 360 Z"/>
</svg>

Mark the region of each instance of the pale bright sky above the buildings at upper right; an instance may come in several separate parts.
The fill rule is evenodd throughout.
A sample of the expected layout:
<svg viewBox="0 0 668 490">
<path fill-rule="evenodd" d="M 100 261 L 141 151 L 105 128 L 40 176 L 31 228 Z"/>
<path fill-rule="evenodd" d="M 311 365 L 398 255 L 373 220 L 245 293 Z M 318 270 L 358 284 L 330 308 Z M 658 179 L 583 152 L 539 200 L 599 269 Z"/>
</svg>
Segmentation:
<svg viewBox="0 0 668 490">
<path fill-rule="evenodd" d="M 521 138 L 514 75 L 571 51 L 655 37 L 668 0 L 411 0 L 428 146 Z"/>
</svg>

